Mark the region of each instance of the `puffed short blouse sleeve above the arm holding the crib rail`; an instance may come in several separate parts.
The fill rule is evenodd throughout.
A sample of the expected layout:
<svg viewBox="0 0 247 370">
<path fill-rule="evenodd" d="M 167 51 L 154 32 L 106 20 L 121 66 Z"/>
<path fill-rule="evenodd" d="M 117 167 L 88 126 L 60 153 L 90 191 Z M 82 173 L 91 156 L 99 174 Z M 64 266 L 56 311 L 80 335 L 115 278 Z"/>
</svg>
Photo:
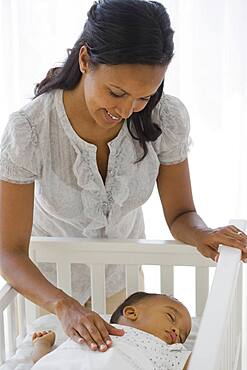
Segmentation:
<svg viewBox="0 0 247 370">
<path fill-rule="evenodd" d="M 189 114 L 178 98 L 163 94 L 152 120 L 162 131 L 153 143 L 161 164 L 177 164 L 187 158 L 191 139 Z"/>
</svg>

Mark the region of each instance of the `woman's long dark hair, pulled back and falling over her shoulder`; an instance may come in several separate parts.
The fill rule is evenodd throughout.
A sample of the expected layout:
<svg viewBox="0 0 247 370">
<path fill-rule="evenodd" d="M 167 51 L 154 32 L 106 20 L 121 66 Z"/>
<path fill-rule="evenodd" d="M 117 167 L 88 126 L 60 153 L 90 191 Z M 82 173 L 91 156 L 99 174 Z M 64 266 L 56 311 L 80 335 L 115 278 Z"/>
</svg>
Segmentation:
<svg viewBox="0 0 247 370">
<path fill-rule="evenodd" d="M 72 90 L 81 79 L 79 52 L 87 48 L 90 65 L 144 64 L 166 66 L 173 57 L 173 33 L 169 15 L 162 4 L 148 0 L 98 0 L 87 13 L 88 19 L 62 67 L 49 70 L 35 87 L 35 97 L 53 89 Z M 163 85 L 145 108 L 127 120 L 130 134 L 138 140 L 146 156 L 146 142 L 154 141 L 161 129 L 151 113 L 159 102 Z M 131 123 L 135 133 L 131 130 Z"/>
</svg>

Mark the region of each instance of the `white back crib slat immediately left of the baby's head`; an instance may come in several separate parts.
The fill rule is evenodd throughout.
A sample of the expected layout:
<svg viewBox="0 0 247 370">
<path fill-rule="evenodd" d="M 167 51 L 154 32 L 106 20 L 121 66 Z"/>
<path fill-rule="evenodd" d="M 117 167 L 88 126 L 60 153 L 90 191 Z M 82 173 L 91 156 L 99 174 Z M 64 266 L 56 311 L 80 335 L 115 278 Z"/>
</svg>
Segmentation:
<svg viewBox="0 0 247 370">
<path fill-rule="evenodd" d="M 92 310 L 106 313 L 105 265 L 91 265 Z"/>
</svg>

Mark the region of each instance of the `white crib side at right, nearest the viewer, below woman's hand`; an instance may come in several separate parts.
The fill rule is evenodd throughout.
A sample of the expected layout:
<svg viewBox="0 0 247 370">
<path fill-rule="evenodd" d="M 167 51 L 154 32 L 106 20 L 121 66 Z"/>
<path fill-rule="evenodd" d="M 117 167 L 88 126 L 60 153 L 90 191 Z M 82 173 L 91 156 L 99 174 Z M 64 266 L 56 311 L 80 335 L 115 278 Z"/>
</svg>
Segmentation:
<svg viewBox="0 0 247 370">
<path fill-rule="evenodd" d="M 240 258 L 240 250 L 221 247 L 214 282 L 201 320 L 189 370 L 242 369 Z"/>
</svg>

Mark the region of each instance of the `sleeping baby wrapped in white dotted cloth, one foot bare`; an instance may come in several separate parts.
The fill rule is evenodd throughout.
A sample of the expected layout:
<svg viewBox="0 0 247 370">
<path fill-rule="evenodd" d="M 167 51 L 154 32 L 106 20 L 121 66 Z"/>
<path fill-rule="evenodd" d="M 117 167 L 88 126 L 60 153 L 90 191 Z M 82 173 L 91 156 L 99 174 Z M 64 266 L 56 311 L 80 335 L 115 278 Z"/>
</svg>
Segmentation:
<svg viewBox="0 0 247 370">
<path fill-rule="evenodd" d="M 191 317 L 178 300 L 164 294 L 137 292 L 112 314 L 110 322 L 124 329 L 111 336 L 106 352 L 94 352 L 72 339 L 52 351 L 53 331 L 33 334 L 35 370 L 185 370 L 190 351 L 182 343 L 191 330 Z"/>
</svg>

